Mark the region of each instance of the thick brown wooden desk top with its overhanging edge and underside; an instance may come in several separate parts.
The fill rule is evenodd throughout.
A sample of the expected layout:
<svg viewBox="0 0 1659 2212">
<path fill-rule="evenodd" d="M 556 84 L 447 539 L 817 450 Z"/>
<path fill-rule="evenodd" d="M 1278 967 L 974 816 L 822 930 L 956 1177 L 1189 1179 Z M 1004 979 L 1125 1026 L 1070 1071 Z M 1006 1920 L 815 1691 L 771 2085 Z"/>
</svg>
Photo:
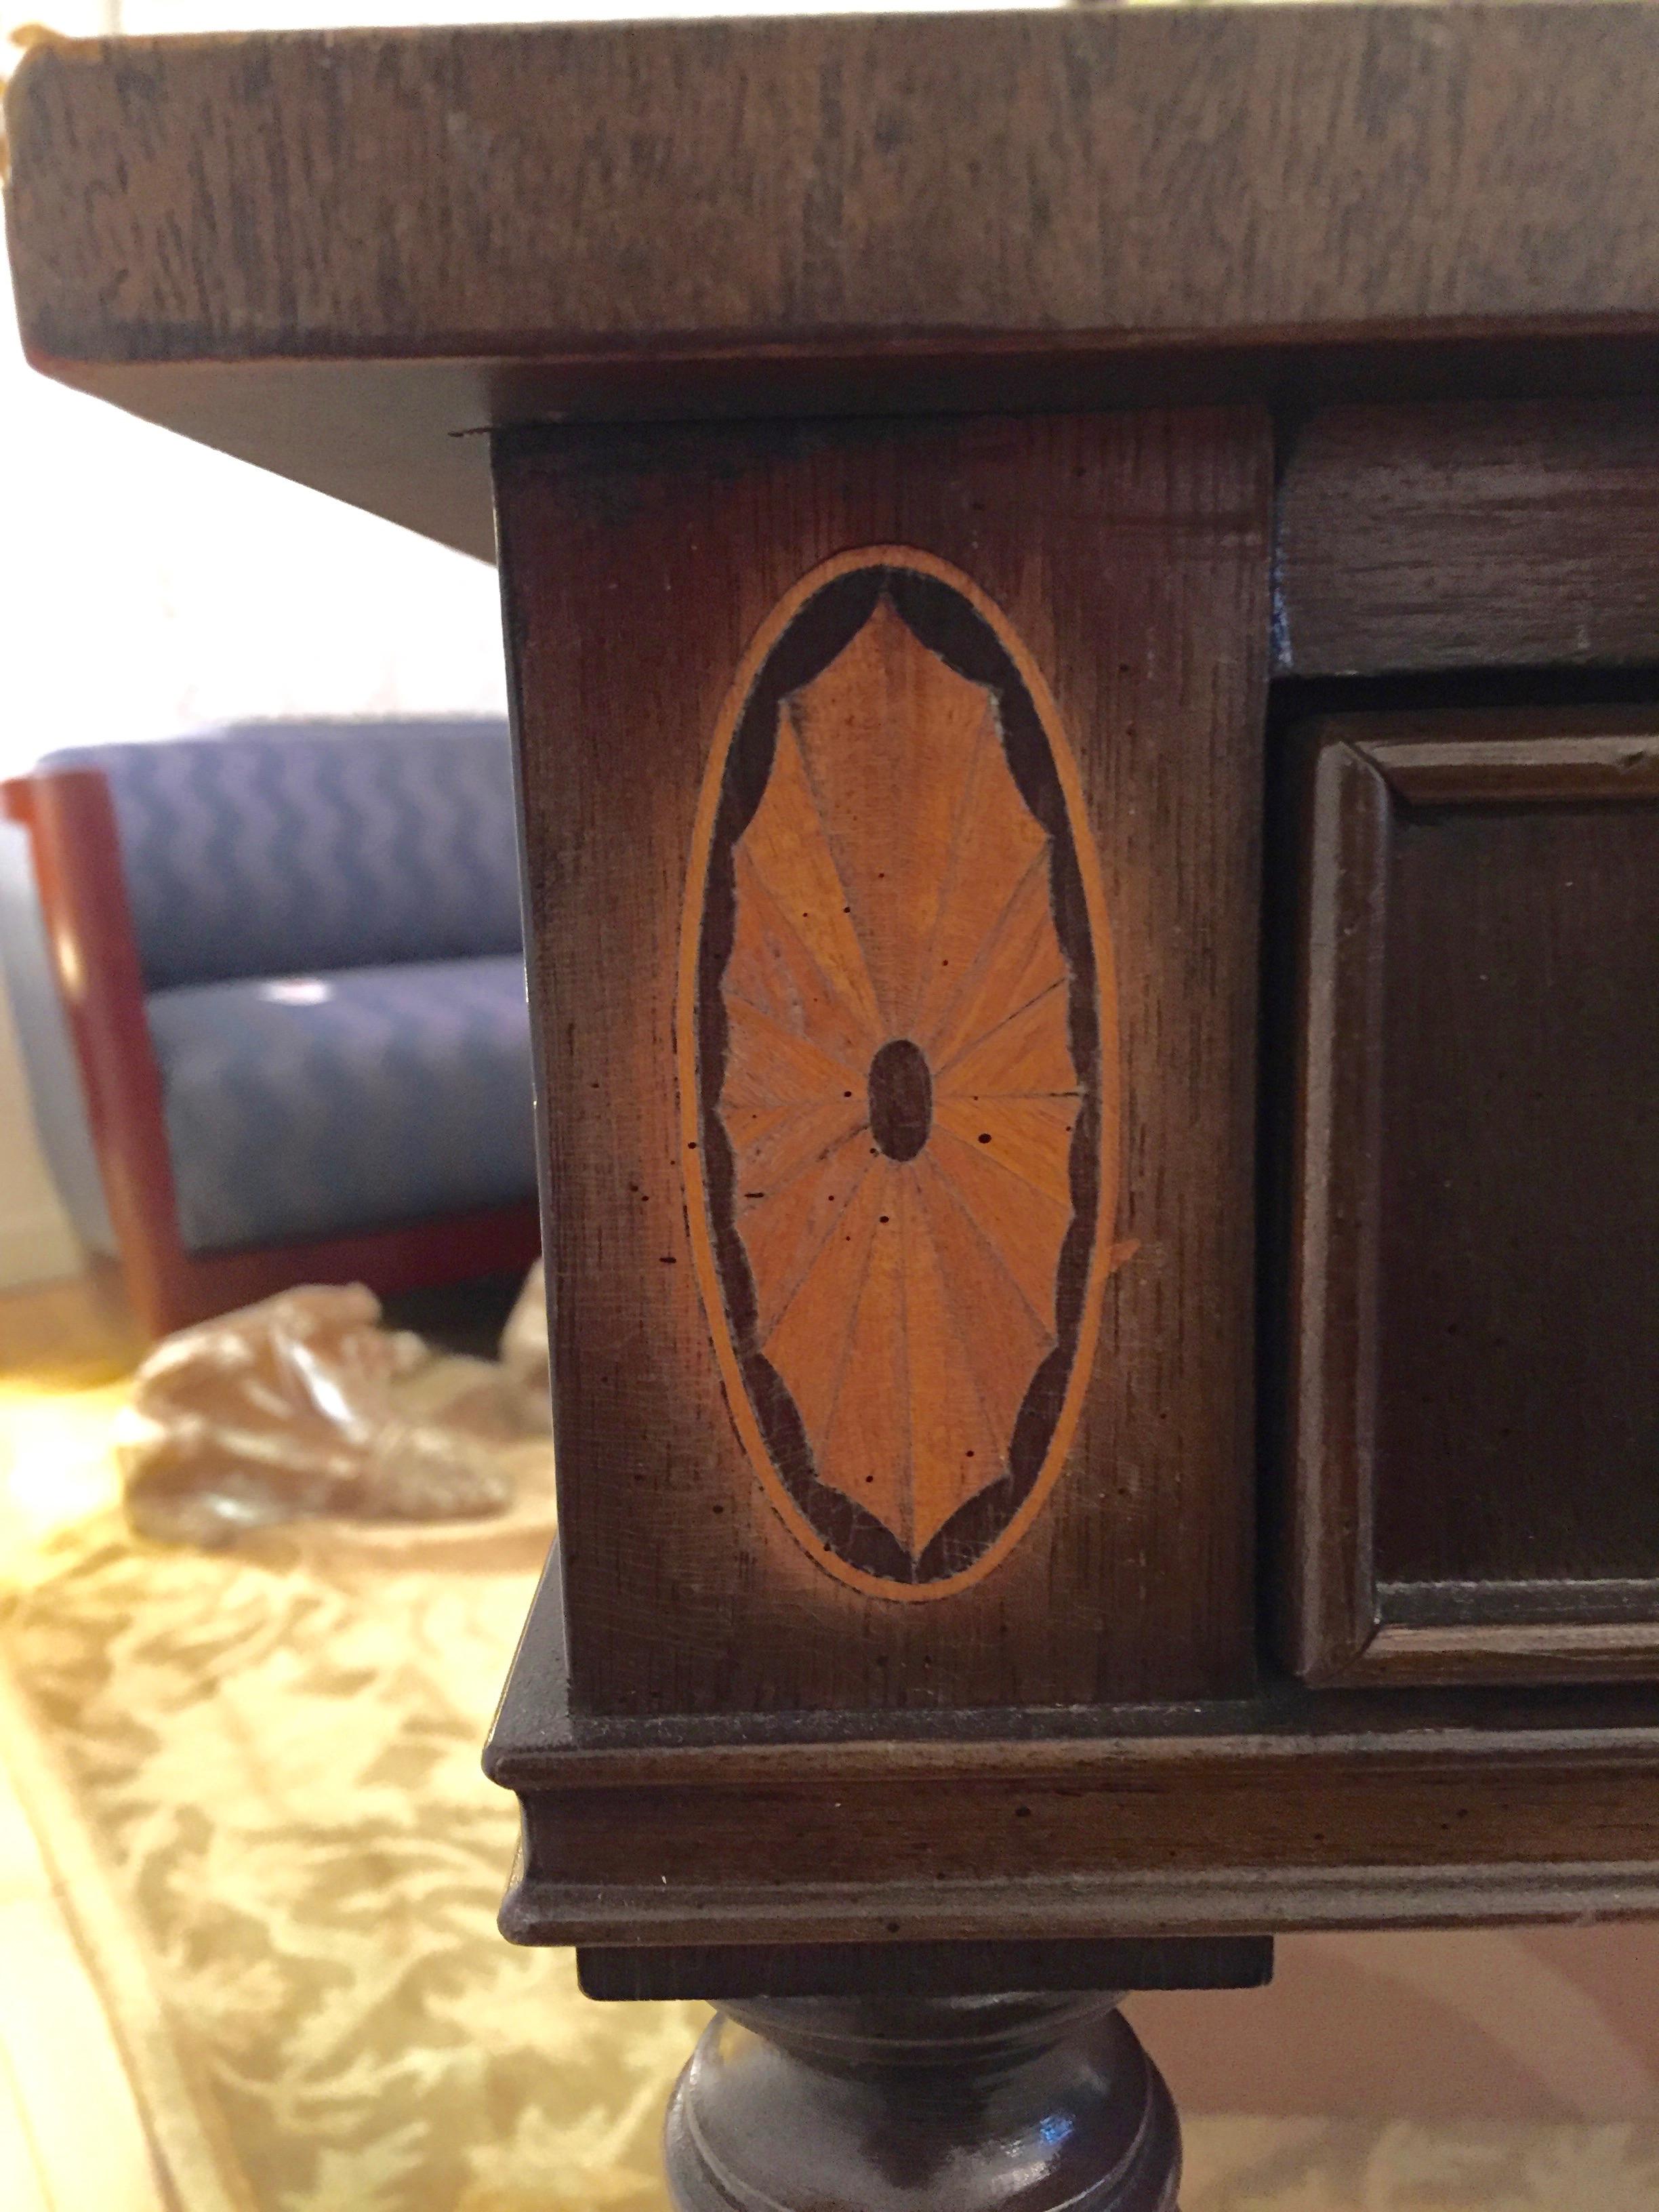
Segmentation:
<svg viewBox="0 0 1659 2212">
<path fill-rule="evenodd" d="M 491 551 L 487 438 L 1646 380 L 1659 4 L 69 42 L 18 71 L 31 358 Z"/>
</svg>

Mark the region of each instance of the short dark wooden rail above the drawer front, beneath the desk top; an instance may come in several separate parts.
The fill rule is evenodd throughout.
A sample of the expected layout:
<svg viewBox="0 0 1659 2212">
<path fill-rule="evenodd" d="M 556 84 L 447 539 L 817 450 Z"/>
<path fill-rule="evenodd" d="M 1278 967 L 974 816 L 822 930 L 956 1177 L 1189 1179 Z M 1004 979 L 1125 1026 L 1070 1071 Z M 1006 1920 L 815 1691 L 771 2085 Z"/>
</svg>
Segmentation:
<svg viewBox="0 0 1659 2212">
<path fill-rule="evenodd" d="M 1659 403 L 1316 414 L 1276 588 L 1281 675 L 1659 661 Z"/>
</svg>

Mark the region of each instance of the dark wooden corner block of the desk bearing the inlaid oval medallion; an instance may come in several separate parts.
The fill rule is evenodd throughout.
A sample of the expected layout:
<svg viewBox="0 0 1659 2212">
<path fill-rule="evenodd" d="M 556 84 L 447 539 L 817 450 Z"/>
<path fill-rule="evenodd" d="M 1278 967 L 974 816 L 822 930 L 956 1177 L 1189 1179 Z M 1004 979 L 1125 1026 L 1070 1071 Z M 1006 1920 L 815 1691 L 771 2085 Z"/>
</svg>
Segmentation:
<svg viewBox="0 0 1659 2212">
<path fill-rule="evenodd" d="M 573 1705 L 1248 1688 L 1265 425 L 498 484 Z"/>
</svg>

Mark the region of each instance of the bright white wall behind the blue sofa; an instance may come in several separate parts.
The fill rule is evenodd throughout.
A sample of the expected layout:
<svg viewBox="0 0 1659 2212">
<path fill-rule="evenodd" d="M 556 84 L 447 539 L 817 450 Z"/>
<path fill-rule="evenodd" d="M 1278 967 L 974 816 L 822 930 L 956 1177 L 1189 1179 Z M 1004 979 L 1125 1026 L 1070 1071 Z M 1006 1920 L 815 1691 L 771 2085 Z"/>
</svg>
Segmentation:
<svg viewBox="0 0 1659 2212">
<path fill-rule="evenodd" d="M 774 0 L 770 11 L 823 4 Z M 754 7 L 0 0 L 0 42 L 35 20 L 93 35 L 639 13 L 734 15 Z M 22 361 L 9 288 L 0 288 L 0 776 L 55 745 L 164 737 L 208 721 L 502 710 L 489 568 L 46 383 Z M 0 1002 L 0 1285 L 69 1265 L 73 1243 L 40 1161 Z"/>
</svg>

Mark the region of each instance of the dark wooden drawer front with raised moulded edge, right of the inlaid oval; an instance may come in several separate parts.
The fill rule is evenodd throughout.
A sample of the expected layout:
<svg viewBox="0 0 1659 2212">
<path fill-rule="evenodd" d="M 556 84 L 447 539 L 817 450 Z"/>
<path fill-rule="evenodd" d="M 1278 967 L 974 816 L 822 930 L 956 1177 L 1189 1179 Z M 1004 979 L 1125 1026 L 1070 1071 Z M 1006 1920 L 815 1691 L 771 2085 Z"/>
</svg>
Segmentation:
<svg viewBox="0 0 1659 2212">
<path fill-rule="evenodd" d="M 1292 1661 L 1659 1677 L 1659 714 L 1310 743 Z"/>
</svg>

